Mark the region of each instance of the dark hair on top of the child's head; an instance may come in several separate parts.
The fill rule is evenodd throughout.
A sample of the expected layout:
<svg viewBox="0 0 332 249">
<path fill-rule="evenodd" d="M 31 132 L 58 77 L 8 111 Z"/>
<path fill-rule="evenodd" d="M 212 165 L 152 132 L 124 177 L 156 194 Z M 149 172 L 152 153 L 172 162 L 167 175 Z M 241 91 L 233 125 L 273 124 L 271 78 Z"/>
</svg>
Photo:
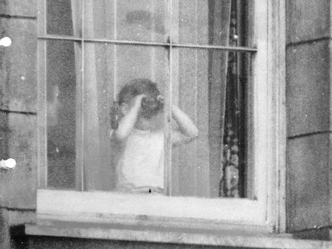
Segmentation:
<svg viewBox="0 0 332 249">
<path fill-rule="evenodd" d="M 139 94 L 146 94 L 148 97 L 157 97 L 160 92 L 157 84 L 148 79 L 134 79 L 129 81 L 118 93 L 117 102 L 119 105 L 128 103 Z"/>
</svg>

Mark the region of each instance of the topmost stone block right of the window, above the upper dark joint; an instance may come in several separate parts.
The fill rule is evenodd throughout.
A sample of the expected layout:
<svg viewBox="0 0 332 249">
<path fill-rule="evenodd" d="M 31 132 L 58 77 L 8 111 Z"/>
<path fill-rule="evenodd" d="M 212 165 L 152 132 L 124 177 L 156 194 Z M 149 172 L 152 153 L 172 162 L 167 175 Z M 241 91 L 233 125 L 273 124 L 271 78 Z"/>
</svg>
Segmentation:
<svg viewBox="0 0 332 249">
<path fill-rule="evenodd" d="M 299 42 L 330 36 L 330 1 L 286 1 L 286 41 Z"/>
</svg>

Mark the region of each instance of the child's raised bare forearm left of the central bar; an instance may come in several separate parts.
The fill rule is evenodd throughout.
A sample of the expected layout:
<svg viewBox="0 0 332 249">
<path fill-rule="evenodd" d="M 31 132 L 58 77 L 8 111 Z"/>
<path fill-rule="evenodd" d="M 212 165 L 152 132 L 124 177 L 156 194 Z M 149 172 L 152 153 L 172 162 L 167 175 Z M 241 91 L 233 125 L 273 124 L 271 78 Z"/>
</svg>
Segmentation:
<svg viewBox="0 0 332 249">
<path fill-rule="evenodd" d="M 137 120 L 138 113 L 141 108 L 141 101 L 145 97 L 145 94 L 137 95 L 133 100 L 132 106 L 127 106 L 128 112 L 119 120 L 118 127 L 111 134 L 111 139 L 117 141 L 124 141 L 134 129 L 135 122 Z"/>
</svg>

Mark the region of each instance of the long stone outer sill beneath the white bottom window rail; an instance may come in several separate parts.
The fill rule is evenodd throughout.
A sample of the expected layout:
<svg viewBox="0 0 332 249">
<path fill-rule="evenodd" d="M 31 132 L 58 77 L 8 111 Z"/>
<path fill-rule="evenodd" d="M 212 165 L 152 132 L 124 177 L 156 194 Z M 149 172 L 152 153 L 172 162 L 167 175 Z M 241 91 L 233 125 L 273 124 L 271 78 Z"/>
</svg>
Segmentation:
<svg viewBox="0 0 332 249">
<path fill-rule="evenodd" d="M 250 233 L 239 230 L 203 230 L 125 226 L 85 222 L 53 221 L 26 225 L 30 236 L 57 236 L 85 239 L 130 240 L 255 248 L 332 248 L 330 241 L 294 239 L 291 234 Z"/>
</svg>

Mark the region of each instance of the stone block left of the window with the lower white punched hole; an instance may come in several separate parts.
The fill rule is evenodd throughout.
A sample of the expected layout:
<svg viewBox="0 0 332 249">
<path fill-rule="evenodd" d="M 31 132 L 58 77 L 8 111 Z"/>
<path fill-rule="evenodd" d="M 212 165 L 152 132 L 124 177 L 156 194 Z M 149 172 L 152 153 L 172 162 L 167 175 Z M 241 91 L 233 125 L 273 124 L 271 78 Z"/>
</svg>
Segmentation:
<svg viewBox="0 0 332 249">
<path fill-rule="evenodd" d="M 7 157 L 16 160 L 14 169 L 0 169 L 0 206 L 8 208 L 36 208 L 37 187 L 37 117 L 36 115 L 7 113 L 6 129 L 2 141 Z M 2 155 L 1 155 L 2 156 Z"/>
</svg>

